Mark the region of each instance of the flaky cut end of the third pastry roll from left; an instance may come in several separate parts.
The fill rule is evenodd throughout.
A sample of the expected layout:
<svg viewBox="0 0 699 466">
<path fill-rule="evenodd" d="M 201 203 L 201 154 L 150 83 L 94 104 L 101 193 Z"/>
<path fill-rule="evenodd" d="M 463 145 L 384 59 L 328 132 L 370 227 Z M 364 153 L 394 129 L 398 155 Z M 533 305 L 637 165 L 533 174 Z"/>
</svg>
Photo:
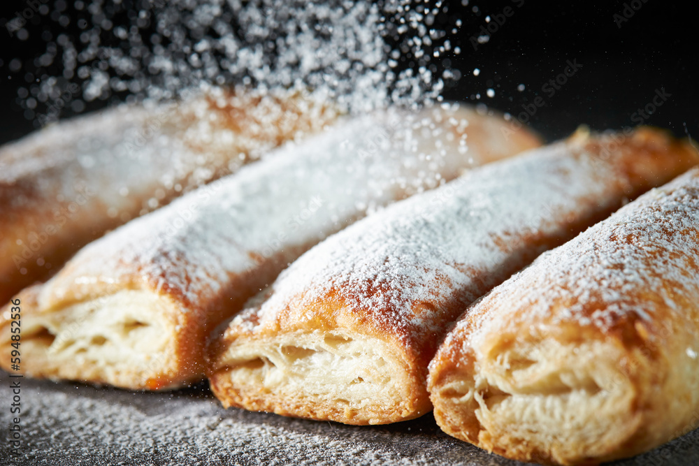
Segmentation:
<svg viewBox="0 0 699 466">
<path fill-rule="evenodd" d="M 225 407 L 366 425 L 431 409 L 388 344 L 351 333 L 242 338 L 215 358 L 212 391 Z"/>
</svg>

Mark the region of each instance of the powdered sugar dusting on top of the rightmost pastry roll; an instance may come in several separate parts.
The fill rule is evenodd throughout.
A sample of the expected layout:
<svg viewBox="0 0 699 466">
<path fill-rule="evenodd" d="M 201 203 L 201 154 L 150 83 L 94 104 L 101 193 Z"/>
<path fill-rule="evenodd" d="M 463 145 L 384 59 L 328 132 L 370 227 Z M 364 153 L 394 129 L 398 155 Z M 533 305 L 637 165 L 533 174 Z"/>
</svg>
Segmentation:
<svg viewBox="0 0 699 466">
<path fill-rule="evenodd" d="M 629 317 L 653 325 L 661 310 L 684 313 L 687 297 L 697 296 L 698 264 L 695 169 L 542 254 L 484 298 L 473 312 L 486 311 L 475 321 L 461 321 L 454 334 L 477 326 L 471 337 L 477 346 L 496 328 L 524 322 L 571 322 L 603 332 Z"/>
</svg>

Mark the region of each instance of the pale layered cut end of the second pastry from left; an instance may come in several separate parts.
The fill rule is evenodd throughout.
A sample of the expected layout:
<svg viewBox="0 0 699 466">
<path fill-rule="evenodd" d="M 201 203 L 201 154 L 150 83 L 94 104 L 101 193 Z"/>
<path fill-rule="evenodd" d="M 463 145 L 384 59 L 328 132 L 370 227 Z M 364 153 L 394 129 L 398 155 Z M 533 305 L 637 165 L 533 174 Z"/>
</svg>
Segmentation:
<svg viewBox="0 0 699 466">
<path fill-rule="evenodd" d="M 38 310 L 40 290 L 34 286 L 19 296 L 22 370 L 30 377 L 132 390 L 176 388 L 187 381 L 178 367 L 175 325 L 165 317 L 173 305 L 167 298 L 122 290 L 60 309 Z M 0 344 L 9 348 L 5 317 Z"/>
</svg>

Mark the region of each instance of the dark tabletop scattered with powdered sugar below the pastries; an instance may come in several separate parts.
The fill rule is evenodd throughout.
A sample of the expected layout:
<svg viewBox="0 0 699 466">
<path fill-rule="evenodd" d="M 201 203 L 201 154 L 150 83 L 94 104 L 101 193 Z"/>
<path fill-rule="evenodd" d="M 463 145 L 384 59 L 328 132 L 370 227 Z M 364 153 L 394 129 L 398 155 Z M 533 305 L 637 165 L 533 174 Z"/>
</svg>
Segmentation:
<svg viewBox="0 0 699 466">
<path fill-rule="evenodd" d="M 2 400 L 13 396 L 10 380 L 0 372 Z M 21 396 L 22 455 L 1 442 L 3 464 L 524 466 L 445 435 L 431 415 L 373 427 L 304 421 L 223 409 L 203 387 L 129 393 L 23 379 Z M 3 437 L 12 416 L 0 411 Z M 618 464 L 659 459 L 699 463 L 699 430 Z"/>
</svg>

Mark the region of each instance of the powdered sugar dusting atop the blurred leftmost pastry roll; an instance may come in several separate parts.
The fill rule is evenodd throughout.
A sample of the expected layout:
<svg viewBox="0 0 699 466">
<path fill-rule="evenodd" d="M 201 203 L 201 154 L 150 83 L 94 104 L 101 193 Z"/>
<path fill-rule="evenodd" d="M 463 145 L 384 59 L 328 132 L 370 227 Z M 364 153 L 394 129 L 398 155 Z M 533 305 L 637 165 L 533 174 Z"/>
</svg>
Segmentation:
<svg viewBox="0 0 699 466">
<path fill-rule="evenodd" d="M 308 94 L 202 87 L 180 103 L 121 105 L 6 145 L 0 184 L 16 207 L 33 202 L 43 208 L 91 191 L 93 203 L 101 201 L 109 217 L 121 215 L 123 222 L 335 117 Z M 31 189 L 29 200 L 12 195 L 15 185 Z"/>
</svg>

